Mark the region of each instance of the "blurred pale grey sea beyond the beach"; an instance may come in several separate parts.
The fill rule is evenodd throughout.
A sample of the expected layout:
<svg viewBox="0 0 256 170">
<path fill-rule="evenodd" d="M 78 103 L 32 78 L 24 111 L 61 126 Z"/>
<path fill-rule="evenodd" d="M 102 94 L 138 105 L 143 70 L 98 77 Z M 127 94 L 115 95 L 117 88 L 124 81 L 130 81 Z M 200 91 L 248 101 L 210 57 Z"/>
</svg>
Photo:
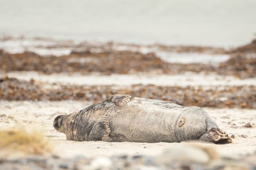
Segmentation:
<svg viewBox="0 0 256 170">
<path fill-rule="evenodd" d="M 229 47 L 255 18 L 255 0 L 0 0 L 0 36 Z"/>
</svg>

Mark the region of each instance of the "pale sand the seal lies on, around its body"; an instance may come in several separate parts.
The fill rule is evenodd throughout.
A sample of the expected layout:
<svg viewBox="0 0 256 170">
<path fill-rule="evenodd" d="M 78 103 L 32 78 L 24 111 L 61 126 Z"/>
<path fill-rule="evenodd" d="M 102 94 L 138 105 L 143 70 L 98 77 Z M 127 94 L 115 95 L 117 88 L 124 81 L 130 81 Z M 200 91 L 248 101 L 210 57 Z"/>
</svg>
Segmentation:
<svg viewBox="0 0 256 170">
<path fill-rule="evenodd" d="M 65 134 L 52 127 L 53 119 L 59 114 L 78 111 L 89 103 L 79 101 L 0 101 L 0 128 L 15 127 L 18 124 L 28 129 L 35 126 L 45 131 L 45 136 L 55 143 L 56 153 L 61 157 L 84 155 L 157 155 L 164 149 L 175 147 L 180 143 L 107 143 L 103 141 L 77 142 L 67 141 Z M 221 154 L 251 153 L 256 150 L 256 110 L 214 109 L 205 110 L 216 120 L 221 129 L 234 134 L 234 143 L 214 145 Z M 254 124 L 252 128 L 243 127 L 246 123 Z M 236 124 L 236 125 L 234 125 Z M 241 137 L 241 135 L 246 138 Z"/>
</svg>

